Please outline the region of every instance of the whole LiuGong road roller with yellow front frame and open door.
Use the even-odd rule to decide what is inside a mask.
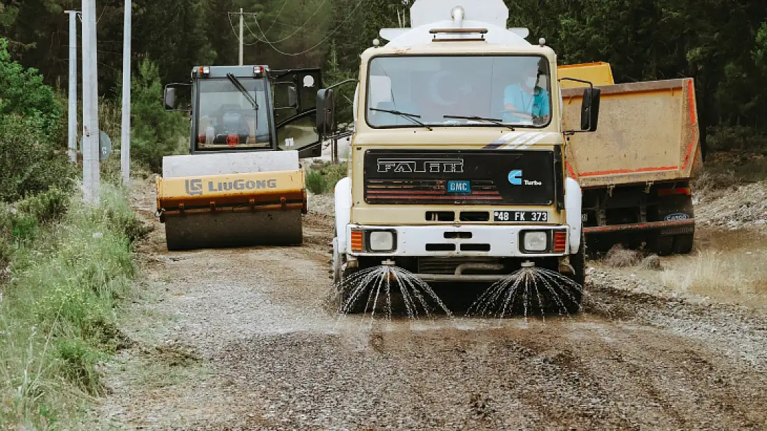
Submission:
[[[321,155],[320,87],[319,69],[266,65],[198,66],[191,83],[165,87],[166,110],[191,124],[189,154],[163,157],[156,179],[168,250],[302,242],[299,159]]]

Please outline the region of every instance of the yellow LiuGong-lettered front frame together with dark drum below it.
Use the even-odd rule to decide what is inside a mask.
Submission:
[[[304,172],[158,178],[168,250],[300,244]]]

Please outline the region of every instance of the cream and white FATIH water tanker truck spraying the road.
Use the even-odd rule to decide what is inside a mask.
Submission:
[[[433,283],[536,266],[569,281],[542,295],[578,311],[581,188],[565,137],[597,130],[600,91],[580,90],[580,122],[565,129],[555,51],[508,17],[500,0],[417,0],[411,28],[382,30],[388,43],[361,55],[350,175],[334,191],[338,286],[379,265]],[[318,92],[323,136],[336,90]]]

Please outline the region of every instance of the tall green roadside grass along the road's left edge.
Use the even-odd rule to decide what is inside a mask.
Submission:
[[[43,194],[2,209],[0,429],[66,428],[104,393],[99,363],[120,342],[115,312],[130,295],[132,241],[146,230],[123,191],[103,184],[101,196],[98,207]]]

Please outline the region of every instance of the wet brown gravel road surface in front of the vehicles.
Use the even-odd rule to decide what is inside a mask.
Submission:
[[[331,218],[303,247],[169,253],[156,230],[107,367],[117,429],[765,429],[767,318],[592,271],[568,318],[339,316]]]

